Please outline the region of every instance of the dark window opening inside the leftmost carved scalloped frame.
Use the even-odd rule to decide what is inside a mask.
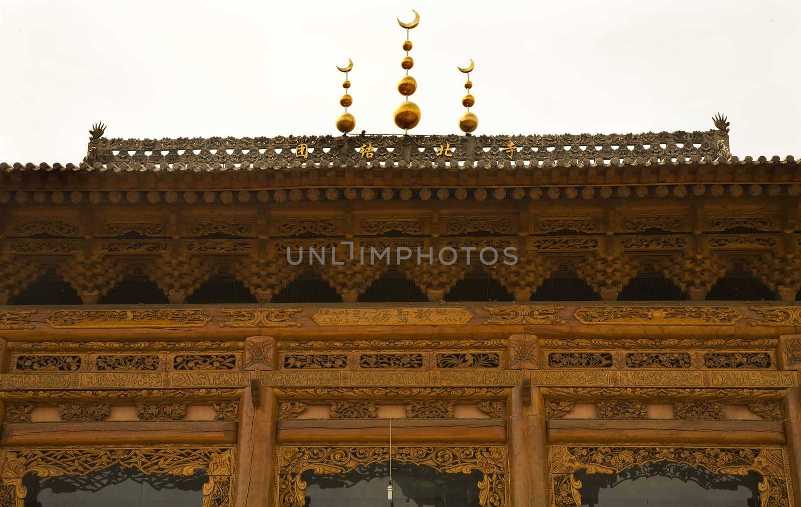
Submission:
[[[112,466],[85,477],[38,477],[29,473],[22,478],[26,486],[25,507],[201,507],[203,484],[207,473],[191,476],[145,475],[138,469]]]

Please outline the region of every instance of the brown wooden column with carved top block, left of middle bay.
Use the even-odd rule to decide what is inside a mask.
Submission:
[[[276,485],[278,400],[272,388],[260,385],[259,373],[276,365],[276,342],[267,336],[245,341],[245,369],[251,385],[239,405],[236,439],[235,507],[272,506]]]

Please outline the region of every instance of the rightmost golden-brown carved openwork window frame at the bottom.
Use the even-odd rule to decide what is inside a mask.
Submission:
[[[620,473],[632,466],[670,462],[711,473],[746,476],[759,473],[760,507],[794,507],[790,464],[783,447],[692,445],[549,445],[553,507],[579,507],[582,482],[576,472]]]

